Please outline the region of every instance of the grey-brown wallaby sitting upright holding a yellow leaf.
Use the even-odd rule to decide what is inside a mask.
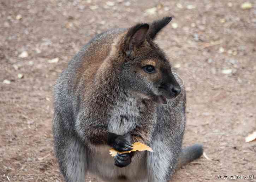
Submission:
[[[168,182],[202,155],[181,150],[186,95],[154,42],[172,17],[97,35],[69,62],[54,87],[54,148],[66,182],[97,175],[109,182]],[[176,80],[177,79],[177,80]],[[130,151],[141,142],[154,152]]]

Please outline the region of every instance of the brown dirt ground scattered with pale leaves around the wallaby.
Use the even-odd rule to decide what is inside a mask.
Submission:
[[[201,143],[211,159],[173,181],[256,181],[256,142],[245,143],[256,131],[256,4],[242,9],[244,2],[1,0],[0,181],[62,181],[51,131],[58,74],[96,34],[167,15],[172,23],[157,42],[186,84],[184,146]]]

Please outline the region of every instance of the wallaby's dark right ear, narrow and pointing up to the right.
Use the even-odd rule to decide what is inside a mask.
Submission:
[[[150,25],[150,29],[148,30],[148,37],[153,40],[156,37],[156,34],[171,20],[172,17],[164,17],[161,20],[153,21],[153,23]]]

